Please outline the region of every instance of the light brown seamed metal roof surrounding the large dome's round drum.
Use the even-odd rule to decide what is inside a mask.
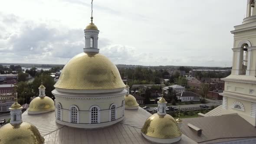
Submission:
[[[55,122],[55,112],[40,115],[28,115],[25,111],[23,121],[35,125],[45,138],[45,144],[66,143],[81,144],[109,143],[109,144],[151,144],[141,134],[144,122],[151,114],[142,108],[138,110],[125,109],[125,120],[106,128],[82,129],[71,128]],[[190,138],[182,135],[181,141],[174,144],[197,144]]]

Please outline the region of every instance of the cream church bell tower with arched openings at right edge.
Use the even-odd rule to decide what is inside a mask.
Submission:
[[[256,7],[247,0],[246,18],[234,26],[233,63],[225,81],[222,114],[237,113],[256,126]]]

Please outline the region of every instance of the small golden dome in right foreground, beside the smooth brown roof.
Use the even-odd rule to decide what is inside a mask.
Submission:
[[[141,128],[141,132],[154,138],[175,138],[182,135],[177,122],[171,115],[151,115]]]

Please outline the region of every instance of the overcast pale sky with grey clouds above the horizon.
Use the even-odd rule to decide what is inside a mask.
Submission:
[[[94,0],[98,48],[115,64],[231,66],[247,0]],[[0,62],[66,64],[85,46],[91,0],[5,0]]]

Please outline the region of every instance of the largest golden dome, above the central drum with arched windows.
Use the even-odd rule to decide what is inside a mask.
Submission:
[[[82,52],[62,69],[55,88],[98,90],[124,88],[120,73],[106,56],[95,52]]]

